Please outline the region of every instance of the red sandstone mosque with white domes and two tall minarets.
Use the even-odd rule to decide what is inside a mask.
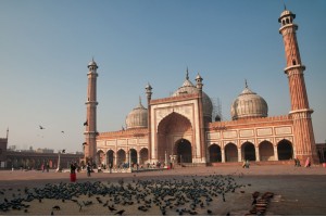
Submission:
[[[213,104],[203,90],[203,78],[198,74],[192,82],[187,69],[183,85],[171,97],[152,99],[148,84],[147,105],[139,100],[126,117],[126,129],[98,132],[98,65],[92,60],[87,74],[84,161],[113,166],[156,162],[214,165],[296,157],[303,164],[310,157],[318,163],[294,18],[287,9],[278,18],[291,100],[291,111],[283,116],[268,116],[266,101],[246,82],[230,106],[231,120],[212,117]]]

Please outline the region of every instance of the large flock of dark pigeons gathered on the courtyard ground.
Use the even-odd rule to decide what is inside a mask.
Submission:
[[[147,212],[150,213],[152,208],[159,208],[159,215],[216,215],[215,210],[218,208],[216,204],[220,203],[218,205],[223,206],[227,194],[235,193],[237,189],[244,187],[237,184],[233,176],[222,175],[189,176],[185,179],[166,180],[135,180],[134,177],[129,182],[121,179],[117,183],[110,181],[47,183],[41,188],[18,189],[20,193],[13,195],[12,199],[4,197],[3,203],[0,203],[0,215],[1,213],[10,214],[13,209],[22,212],[22,215],[28,214],[28,208],[36,205],[28,202],[35,200],[40,204],[45,200],[53,200],[48,215],[66,215],[61,203],[67,202],[73,202],[72,204],[75,205],[70,207],[75,207],[80,215],[96,205],[97,209],[102,207],[102,215],[136,215],[129,212],[130,206],[138,209],[138,215],[149,215]],[[4,195],[3,189],[0,190],[1,194]],[[258,201],[262,199],[258,196],[253,203],[262,206],[262,201]],[[268,196],[271,197],[271,194]],[[265,197],[268,196],[265,195]],[[255,214],[262,214],[261,206],[255,208]],[[251,214],[254,213],[251,212]]]

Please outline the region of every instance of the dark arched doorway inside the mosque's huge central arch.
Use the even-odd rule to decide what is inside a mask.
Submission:
[[[177,163],[192,163],[191,143],[188,140],[178,140],[174,153],[177,155]]]

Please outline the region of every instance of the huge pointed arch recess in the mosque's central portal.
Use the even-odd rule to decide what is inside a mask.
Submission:
[[[158,153],[158,161],[164,162],[165,161],[165,154],[166,156],[170,155],[177,155],[177,150],[175,150],[176,146],[179,145],[180,139],[179,138],[192,138],[192,126],[190,120],[176,113],[173,112],[166,117],[164,117],[160,124],[158,125],[158,144],[154,149],[156,149]],[[185,140],[185,139],[184,139]],[[189,155],[189,153],[185,150],[190,150],[190,159],[187,159],[187,162],[192,162],[191,157],[191,141],[187,140],[190,144],[187,148],[183,148],[187,144],[180,144],[180,153],[186,152],[186,155]],[[185,149],[185,150],[184,150]],[[181,151],[184,150],[184,151]],[[187,156],[189,157],[189,156]],[[183,156],[184,158],[184,156]],[[183,161],[181,158],[181,161]],[[185,158],[186,159],[186,158]],[[179,158],[178,158],[179,161]],[[184,162],[184,161],[183,161]]]

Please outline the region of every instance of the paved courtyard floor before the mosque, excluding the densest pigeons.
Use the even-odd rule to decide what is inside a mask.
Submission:
[[[68,187],[70,174],[68,173],[55,173],[50,170],[49,173],[35,171],[35,170],[2,170],[0,171],[0,204],[5,203],[4,200],[11,201],[15,197],[23,197],[23,190],[34,189],[40,191],[47,184],[51,187],[62,186]],[[263,194],[265,192],[272,192],[274,196],[269,200],[267,208],[264,215],[309,215],[319,216],[326,213],[325,202],[325,189],[326,189],[326,168],[322,166],[313,166],[311,168],[294,167],[292,165],[251,165],[249,169],[241,168],[236,165],[223,165],[216,167],[180,167],[171,170],[156,170],[145,173],[122,173],[122,174],[109,174],[109,173],[92,173],[91,177],[87,177],[86,173],[77,173],[76,184],[85,182],[101,183],[109,188],[115,188],[116,186],[123,186],[125,189],[136,188],[137,184],[139,192],[146,187],[150,189],[160,188],[164,183],[173,183],[171,188],[178,188],[177,193],[183,193],[185,188],[196,182],[198,188],[201,188],[200,183],[213,183],[210,182],[214,179],[214,183],[222,183],[223,189],[229,184],[234,184],[233,192],[226,192],[213,197],[212,202],[208,203],[204,207],[196,207],[195,213],[187,213],[186,207],[188,204],[184,203],[179,206],[174,205],[172,208],[166,208],[164,215],[249,215],[252,209],[254,192]],[[147,186],[141,186],[146,183]],[[142,189],[141,189],[141,188]],[[71,187],[68,187],[71,188]],[[37,189],[37,190],[36,190]],[[165,189],[166,190],[166,189]],[[149,192],[147,190],[147,192]],[[225,197],[224,197],[225,195]],[[150,195],[152,196],[152,195]],[[76,201],[74,197],[73,201]],[[108,199],[108,200],[106,200]],[[131,196],[130,196],[131,199]],[[150,200],[149,200],[150,199]],[[223,200],[222,200],[223,199]],[[5,216],[23,216],[23,215],[60,215],[60,216],[87,216],[87,215],[118,215],[117,210],[124,210],[121,215],[135,216],[135,215],[148,215],[158,216],[163,215],[162,206],[154,205],[151,202],[151,206],[147,210],[141,210],[140,205],[136,203],[136,199],[133,197],[135,204],[126,205],[116,203],[115,212],[110,212],[108,207],[104,207],[100,200],[108,202],[113,206],[113,200],[109,200],[108,195],[79,195],[78,202],[89,202],[92,205],[78,207],[76,203],[71,200],[61,199],[42,199],[37,197],[25,202],[28,204],[27,208],[12,209],[7,212],[0,210],[0,215]],[[148,197],[151,201],[152,197]],[[171,197],[172,200],[172,197]],[[125,202],[125,201],[124,201]],[[126,203],[126,202],[125,202]],[[134,203],[134,202],[133,202]],[[139,201],[138,201],[139,203]],[[79,204],[79,203],[77,203]],[[53,206],[61,207],[60,210],[53,209]],[[111,206],[111,207],[112,207]],[[104,208],[103,208],[104,207]],[[161,209],[161,210],[160,210]],[[164,209],[165,210],[165,209]],[[180,213],[184,210],[184,213]],[[209,213],[208,213],[209,212]],[[210,213],[211,212],[211,213]]]

